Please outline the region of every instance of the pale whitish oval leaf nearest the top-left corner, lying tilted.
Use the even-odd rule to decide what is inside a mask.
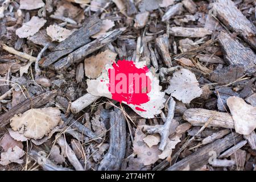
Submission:
[[[38,16],[33,16],[31,20],[22,24],[22,27],[16,30],[16,35],[19,38],[27,38],[28,36],[34,35],[40,30],[46,23],[46,20],[43,18],[38,18]]]

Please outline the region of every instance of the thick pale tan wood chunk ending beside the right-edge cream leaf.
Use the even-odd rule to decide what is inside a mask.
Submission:
[[[214,114],[215,113],[215,114]],[[185,111],[183,119],[193,126],[203,126],[208,119],[214,114],[212,121],[208,127],[224,127],[226,129],[234,129],[234,121],[228,113],[221,113],[213,110],[193,108]]]

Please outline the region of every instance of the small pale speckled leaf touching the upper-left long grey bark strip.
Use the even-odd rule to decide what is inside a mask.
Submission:
[[[72,31],[67,28],[63,28],[57,25],[50,25],[46,28],[47,35],[52,38],[52,41],[63,42],[67,39],[69,35],[72,34]]]

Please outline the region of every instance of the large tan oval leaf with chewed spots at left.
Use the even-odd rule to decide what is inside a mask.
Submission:
[[[60,110],[53,107],[30,109],[10,119],[11,128],[27,138],[40,139],[60,122]]]

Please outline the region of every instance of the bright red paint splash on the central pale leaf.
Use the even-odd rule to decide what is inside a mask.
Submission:
[[[146,73],[148,68],[137,68],[133,61],[119,60],[113,64],[109,73],[109,91],[112,99],[118,102],[140,106],[150,100],[147,94],[151,90],[151,80]],[[133,76],[131,76],[133,75]],[[139,107],[135,109],[146,111]]]

